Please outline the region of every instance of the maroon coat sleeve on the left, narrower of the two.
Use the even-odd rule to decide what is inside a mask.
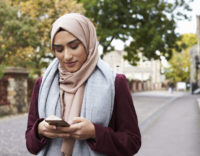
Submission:
[[[42,78],[38,79],[34,85],[32,92],[31,103],[28,113],[28,123],[26,130],[26,147],[32,154],[37,154],[48,142],[45,137],[39,138],[37,127],[38,124],[43,120],[38,115],[38,94],[41,85]]]

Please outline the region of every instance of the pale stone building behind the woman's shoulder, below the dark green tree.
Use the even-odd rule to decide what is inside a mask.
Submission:
[[[123,59],[124,51],[113,51],[106,54],[103,58],[114,71],[125,74],[129,80],[146,82],[145,90],[161,89],[161,63],[160,60],[143,61],[140,54],[140,61],[137,66],[132,66]],[[141,90],[141,89],[140,89]]]

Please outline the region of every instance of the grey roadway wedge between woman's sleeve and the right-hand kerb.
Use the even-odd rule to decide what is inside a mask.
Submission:
[[[138,116],[140,130],[143,132],[165,108],[188,92],[147,91],[133,93],[133,102]]]

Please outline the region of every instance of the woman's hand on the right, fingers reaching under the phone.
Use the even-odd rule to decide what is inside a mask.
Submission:
[[[95,139],[95,127],[88,119],[75,117],[70,127],[57,127],[57,129],[67,132],[74,139]]]

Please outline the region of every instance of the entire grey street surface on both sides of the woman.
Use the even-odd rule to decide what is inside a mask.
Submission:
[[[199,156],[199,95],[175,92],[133,94],[142,132],[136,156]],[[0,118],[0,156],[31,156],[25,145],[27,114]]]

